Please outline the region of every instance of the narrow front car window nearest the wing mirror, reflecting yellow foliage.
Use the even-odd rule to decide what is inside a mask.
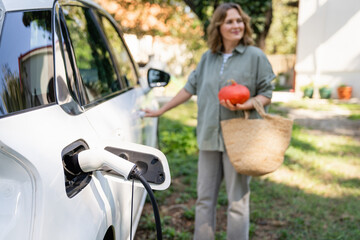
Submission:
[[[137,75],[122,38],[107,17],[99,14],[99,18],[100,25],[114,52],[116,64],[123,82],[127,87],[134,87],[137,84]]]

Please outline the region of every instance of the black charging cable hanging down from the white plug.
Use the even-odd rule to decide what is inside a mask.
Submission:
[[[142,185],[145,187],[147,193],[149,194],[150,201],[151,201],[153,211],[154,211],[157,240],[162,240],[160,214],[159,214],[159,208],[158,208],[158,205],[156,203],[155,196],[154,196],[154,192],[152,191],[149,183],[141,175],[141,172],[137,168],[135,168],[133,171],[131,171],[131,173],[129,175],[129,179],[138,179],[142,183]]]

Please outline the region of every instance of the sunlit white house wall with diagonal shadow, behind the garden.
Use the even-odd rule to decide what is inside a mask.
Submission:
[[[360,1],[300,0],[296,90],[348,84],[360,97]]]

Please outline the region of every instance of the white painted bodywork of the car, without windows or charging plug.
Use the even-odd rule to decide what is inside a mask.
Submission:
[[[0,33],[4,12],[52,9],[54,2],[0,0]],[[61,50],[54,45],[55,79],[66,79]],[[54,103],[0,118],[0,239],[103,239],[109,227],[114,227],[116,239],[129,239],[131,181],[94,171],[89,184],[69,197],[62,154],[78,140],[90,149],[111,146],[152,153],[133,143],[156,147],[157,119],[141,118],[139,111],[157,107],[142,84],[89,109],[81,107],[77,115]],[[156,154],[169,173],[159,188],[164,190],[170,185],[170,170],[166,157]],[[133,236],[145,197],[144,188],[135,183]]]

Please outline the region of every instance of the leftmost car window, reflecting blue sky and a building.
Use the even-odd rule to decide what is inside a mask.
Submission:
[[[55,102],[51,11],[9,12],[0,40],[0,117]]]

